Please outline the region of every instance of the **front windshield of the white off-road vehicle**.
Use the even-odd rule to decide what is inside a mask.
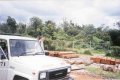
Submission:
[[[44,54],[37,40],[10,40],[11,56],[38,55]]]

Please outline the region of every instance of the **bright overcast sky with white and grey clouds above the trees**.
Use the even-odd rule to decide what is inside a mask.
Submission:
[[[7,16],[24,23],[30,17],[37,16],[57,24],[66,19],[79,25],[113,25],[120,21],[120,0],[0,1],[0,21],[4,21]]]

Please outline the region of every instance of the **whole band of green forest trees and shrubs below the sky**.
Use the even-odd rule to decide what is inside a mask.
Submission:
[[[64,20],[57,25],[54,21],[43,21],[39,17],[32,17],[29,23],[17,23],[15,18],[7,17],[0,22],[0,34],[20,34],[22,36],[45,37],[46,50],[72,50],[77,53],[81,49],[104,51],[107,56],[120,56],[120,22],[114,23],[118,29],[111,29],[102,24],[78,25]],[[87,52],[89,54],[90,51]]]

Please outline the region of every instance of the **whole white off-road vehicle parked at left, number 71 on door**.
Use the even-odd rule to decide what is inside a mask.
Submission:
[[[73,80],[71,66],[46,56],[34,38],[0,35],[0,80]]]

